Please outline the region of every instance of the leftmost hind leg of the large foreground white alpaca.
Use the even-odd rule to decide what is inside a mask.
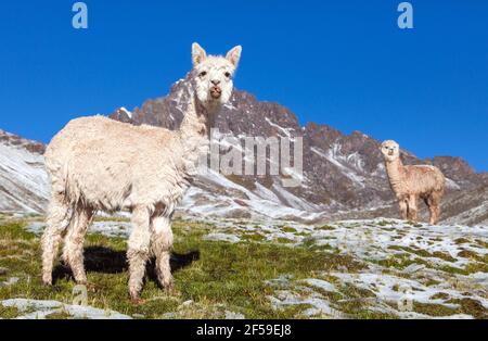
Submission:
[[[61,235],[70,224],[70,209],[62,202],[62,199],[53,195],[47,217],[47,227],[42,235],[42,282],[52,285],[52,267],[57,254]],[[73,214],[73,213],[72,213]]]

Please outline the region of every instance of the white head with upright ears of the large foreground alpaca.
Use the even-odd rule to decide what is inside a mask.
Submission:
[[[198,101],[215,110],[226,104],[232,94],[232,77],[241,59],[242,48],[233,48],[226,56],[207,55],[196,42],[192,46],[192,79]]]

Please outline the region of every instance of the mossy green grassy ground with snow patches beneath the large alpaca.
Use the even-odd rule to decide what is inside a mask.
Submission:
[[[68,268],[57,262],[54,286],[44,287],[40,281],[40,238],[26,230],[26,225],[33,219],[39,220],[40,217],[15,220],[13,217],[0,216],[0,301],[22,298],[72,304],[76,283]],[[126,223],[127,219],[102,217],[95,222]],[[391,304],[394,310],[383,313],[371,308],[380,300],[374,286],[370,287],[371,290],[361,289],[332,274],[359,276],[373,266],[399,280],[419,280],[432,288],[439,286],[441,281],[408,274],[403,269],[414,264],[423,265],[439,274],[452,276],[453,280],[455,276],[488,273],[486,254],[476,253],[473,249],[459,254],[468,261],[462,267],[453,263],[455,258],[449,253],[426,251],[415,245],[389,245],[384,250],[388,251],[386,257],[370,258],[370,252],[377,250],[374,249],[374,238],[368,240],[361,237],[356,244],[348,245],[354,239],[334,235],[341,231],[361,231],[364,226],[360,223],[324,225],[316,227],[313,231],[288,225],[279,225],[275,230],[259,225],[246,228],[247,224],[248,222],[234,222],[221,229],[209,222],[177,219],[174,224],[175,249],[171,260],[176,293],[167,293],[159,288],[151,263],[142,292],[145,302],[140,305],[133,305],[127,293],[126,238],[89,233],[85,244],[85,263],[90,282],[88,304],[133,318],[222,318],[229,312],[246,318],[330,318],[326,314],[306,314],[307,310],[313,307],[306,303],[310,302],[308,299],[319,298],[348,318],[397,318],[395,303],[384,302]],[[395,227],[395,222],[380,220],[376,225],[371,224],[372,229],[383,228],[384,232],[393,237],[404,236],[409,231]],[[205,238],[216,230],[237,236],[240,241],[230,243]],[[416,240],[420,240],[419,236]],[[465,245],[470,242],[472,241],[468,239],[455,240],[455,244]],[[475,242],[479,248],[486,245],[480,239],[475,239]],[[358,256],[355,251],[364,245],[374,248]],[[373,255],[374,252],[371,256]],[[269,283],[283,277],[286,278],[284,285]],[[5,285],[12,278],[18,280]],[[336,291],[303,285],[303,279],[310,278],[328,281]],[[400,291],[401,288],[393,285],[391,289]],[[277,308],[270,298],[277,298],[283,290],[298,298],[298,302]],[[300,303],[301,299],[305,303]],[[477,300],[454,299],[445,293],[437,293],[432,298],[436,299],[448,304],[414,302],[413,312],[433,317],[453,314],[467,314],[476,318],[487,316],[487,310]],[[0,318],[15,318],[25,313],[15,307],[4,307],[0,303]],[[47,318],[70,316],[67,312],[57,311]]]

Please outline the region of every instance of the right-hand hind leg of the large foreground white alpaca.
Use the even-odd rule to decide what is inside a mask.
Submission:
[[[64,242],[63,258],[72,268],[73,276],[79,285],[87,283],[84,266],[84,242],[92,215],[92,211],[89,209],[78,209]]]

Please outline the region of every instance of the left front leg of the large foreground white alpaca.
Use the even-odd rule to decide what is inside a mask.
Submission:
[[[145,274],[145,263],[150,257],[151,231],[150,212],[145,207],[132,211],[132,235],[129,238],[129,293],[133,301],[139,300]]]

